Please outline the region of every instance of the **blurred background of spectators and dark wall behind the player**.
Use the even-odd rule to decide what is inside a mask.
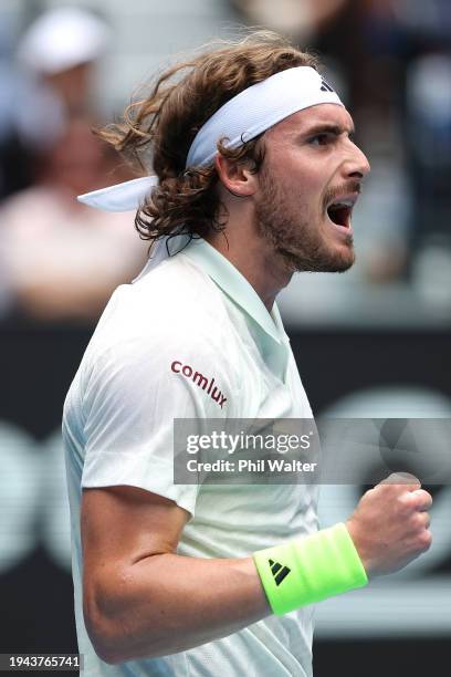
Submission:
[[[62,404],[107,299],[147,253],[133,213],[74,201],[132,178],[91,128],[239,24],[319,52],[373,167],[355,267],[300,274],[280,298],[314,412],[451,416],[449,0],[2,0],[0,653],[76,650]],[[451,488],[430,489],[428,555],[318,606],[315,677],[447,674]],[[324,488],[323,525],[363,490]]]

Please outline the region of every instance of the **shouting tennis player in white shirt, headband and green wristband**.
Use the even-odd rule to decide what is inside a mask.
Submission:
[[[104,133],[156,178],[82,199],[138,207],[155,246],[113,294],[64,408],[86,676],[306,677],[312,604],[430,545],[415,478],[319,531],[313,486],[172,479],[175,418],[312,416],[275,298],[296,271],[353,264],[369,170],[317,67],[256,32],[167,71]]]

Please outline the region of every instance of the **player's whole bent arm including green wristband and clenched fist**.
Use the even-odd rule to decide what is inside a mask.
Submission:
[[[272,611],[282,615],[365,585],[368,575],[398,571],[431,542],[426,510],[432,499],[417,485],[408,487],[381,483],[363,497],[347,524],[253,558],[227,560],[175,554],[186,518],[159,498],[147,499],[150,509],[139,538],[128,542],[125,523],[120,539],[116,528],[105,534],[95,522],[111,520],[112,492],[99,502],[103,492],[87,492],[84,612],[95,649],[109,663],[177,653],[238,632]],[[139,522],[143,511],[136,491],[133,498],[137,508],[129,497],[127,525]],[[166,524],[166,534],[168,523],[172,538],[153,539],[156,527]],[[102,534],[102,544],[92,544],[94,534]],[[144,542],[151,551],[141,550]]]

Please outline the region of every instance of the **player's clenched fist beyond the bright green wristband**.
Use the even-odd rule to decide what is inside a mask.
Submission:
[[[361,497],[346,525],[369,579],[399,571],[430,548],[431,506],[408,475],[390,475]]]

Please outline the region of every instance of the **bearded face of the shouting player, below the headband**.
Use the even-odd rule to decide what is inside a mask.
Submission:
[[[321,104],[264,136],[256,227],[291,272],[342,272],[354,263],[350,217],[369,165],[353,129],[343,106]]]

